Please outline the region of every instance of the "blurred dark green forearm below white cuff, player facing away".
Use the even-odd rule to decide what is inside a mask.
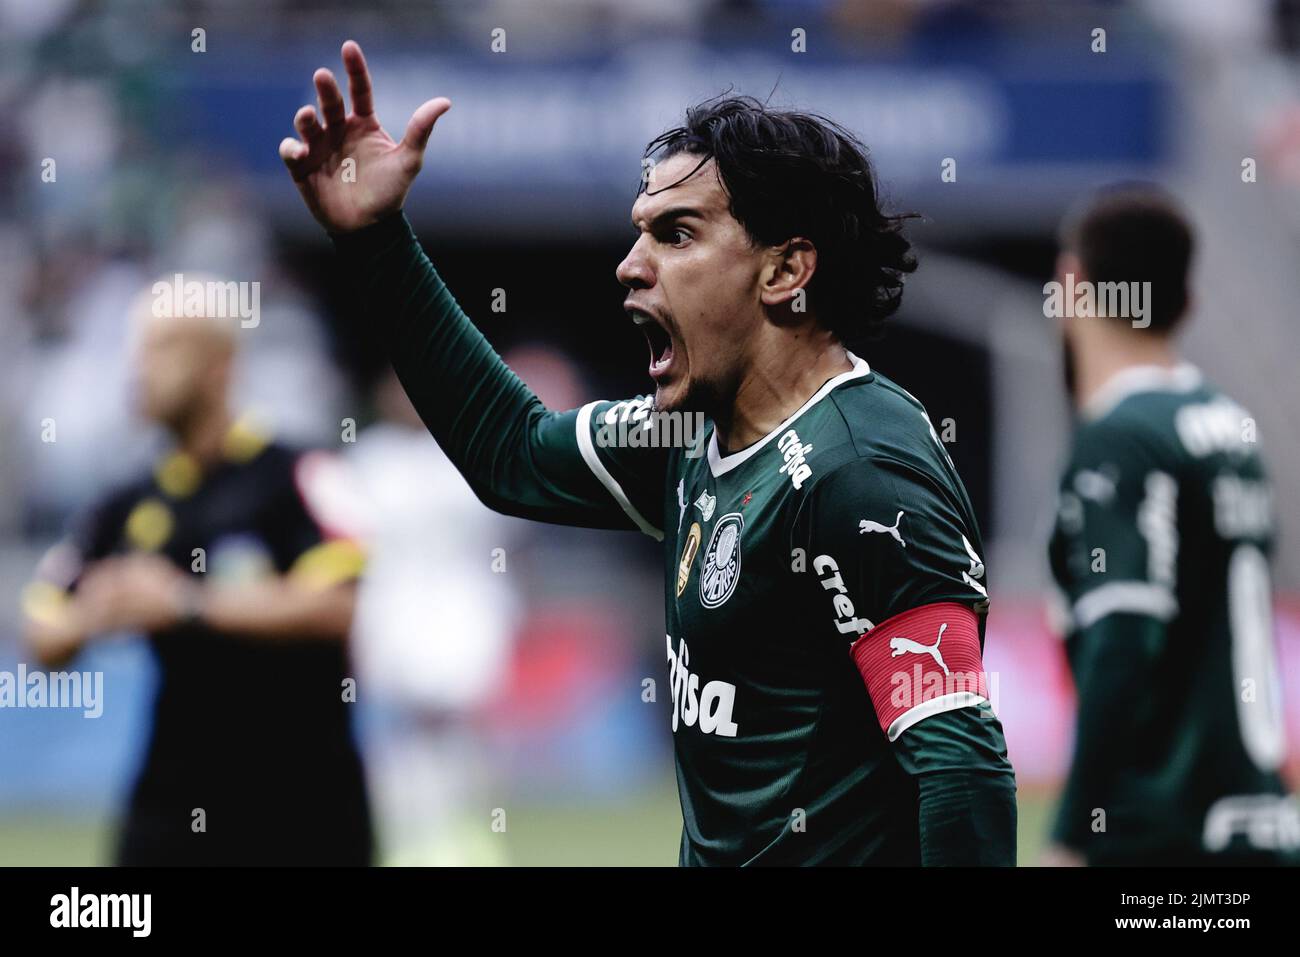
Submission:
[[[1141,700],[1147,662],[1164,640],[1165,625],[1147,615],[1114,614],[1092,624],[1079,642],[1075,685],[1079,713],[1074,757],[1052,836],[1087,849],[1097,811],[1105,810],[1114,771],[1131,740],[1134,709]]]

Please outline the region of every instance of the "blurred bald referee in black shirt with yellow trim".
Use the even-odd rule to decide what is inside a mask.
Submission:
[[[118,863],[367,865],[346,701],[361,553],[308,505],[320,454],[231,416],[237,320],[156,307],[133,309],[136,399],[173,450],[40,562],[30,646],[60,668],[96,636],[148,636],[160,684]]]

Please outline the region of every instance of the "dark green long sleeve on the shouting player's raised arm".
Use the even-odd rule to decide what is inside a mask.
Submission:
[[[664,456],[594,446],[594,419],[614,403],[547,411],[460,309],[402,213],[333,239],[411,402],[484,503],[555,524],[656,529]]]

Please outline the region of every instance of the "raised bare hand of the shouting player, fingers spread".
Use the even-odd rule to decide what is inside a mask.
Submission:
[[[406,195],[424,165],[424,148],[433,125],[451,109],[445,96],[420,104],[400,142],[380,126],[370,92],[370,72],[354,40],[343,44],[352,112],[347,113],[334,74],[316,70],[312,81],[320,99],[294,114],[302,139],[286,137],[280,143],[285,161],[312,216],[333,233],[367,226],[402,208]],[[348,166],[348,160],[355,165]]]

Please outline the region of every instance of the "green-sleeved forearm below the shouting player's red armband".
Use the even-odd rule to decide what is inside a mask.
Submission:
[[[922,865],[1014,867],[1015,774],[992,710],[933,715],[894,744],[918,785]]]

